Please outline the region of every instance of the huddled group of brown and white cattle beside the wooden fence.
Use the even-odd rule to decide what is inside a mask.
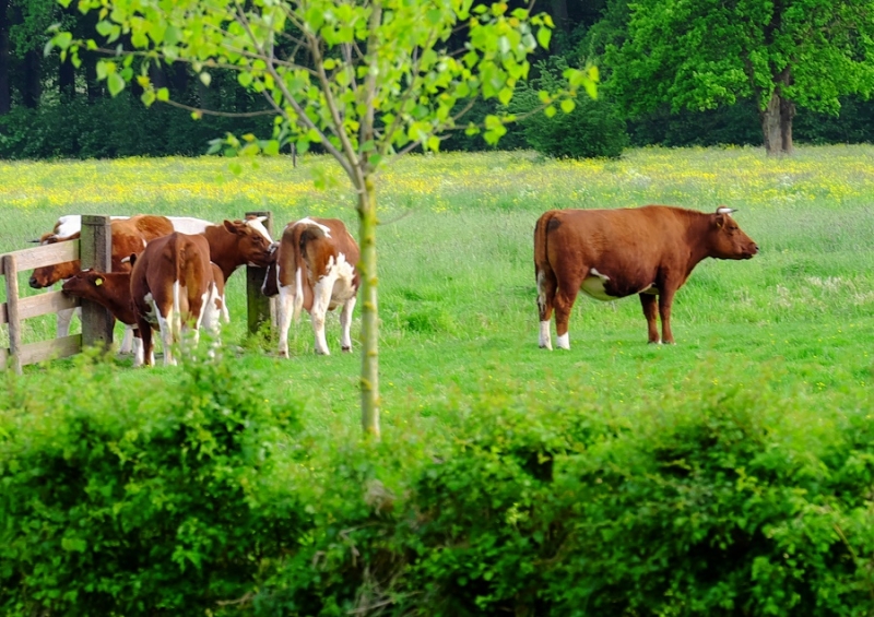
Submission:
[[[302,309],[312,317],[316,351],[329,354],[324,317],[341,304],[343,351],[350,351],[357,245],[340,221],[290,223],[276,242],[263,221],[250,216],[216,225],[190,217],[113,217],[111,272],[81,270],[78,261],[58,263],[34,270],[29,284],[43,288],[63,281],[67,294],[106,307],[128,327],[121,351],[133,352],[134,366],[154,364],[152,330],[158,330],[164,363],[175,364],[174,345],[186,330],[197,342],[201,328],[217,333],[220,321],[228,321],[224,289],[234,271],[246,264],[268,268],[262,290],[280,296],[280,355],[288,355],[288,329]],[[36,241],[72,240],[81,227],[81,216],[62,216]],[[59,335],[69,333],[71,319],[72,311],[59,315]]]

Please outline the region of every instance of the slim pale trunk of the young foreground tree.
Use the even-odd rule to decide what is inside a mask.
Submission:
[[[358,235],[362,258],[362,427],[379,439],[379,315],[376,271],[376,190],[367,176],[358,194]]]

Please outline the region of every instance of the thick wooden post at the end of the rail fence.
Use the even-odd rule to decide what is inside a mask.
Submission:
[[[82,270],[93,268],[101,272],[113,269],[113,228],[108,216],[82,216],[82,236],[79,245]],[[82,346],[109,348],[113,344],[111,313],[98,305],[82,299]]]

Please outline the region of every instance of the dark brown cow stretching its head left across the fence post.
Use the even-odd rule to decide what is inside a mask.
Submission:
[[[225,305],[225,284],[222,271],[214,263],[212,268],[216,293],[212,298],[214,310],[217,311],[225,323],[231,321]],[[137,313],[131,299],[130,272],[101,272],[98,270],[82,270],[63,282],[63,292],[71,296],[85,298],[105,307],[115,319],[129,325],[133,331],[133,366],[143,364],[143,347]]]

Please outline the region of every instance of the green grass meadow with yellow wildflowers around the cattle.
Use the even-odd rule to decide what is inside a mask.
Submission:
[[[331,161],[260,162],[234,178],[221,158],[0,164],[0,251],[26,248],[61,214],[156,213],[220,221],[271,210],[277,228],[305,215],[343,218],[353,197]],[[314,188],[311,170],[334,186]],[[221,181],[218,178],[221,177]],[[580,399],[646,412],[702,383],[748,383],[817,408],[857,400],[874,380],[874,146],[628,152],[617,162],[557,162],[533,153],[409,156],[381,177],[380,363],[383,431],[451,426],[447,410],[477,392],[533,396],[570,410]],[[553,207],[666,203],[739,209],[761,248],[744,262],[708,260],[677,294],[676,346],[647,345],[636,298],[583,296],[570,352],[538,348],[532,262],[536,217]],[[24,293],[26,275],[21,277]],[[314,427],[357,430],[357,354],[316,357],[306,320],[291,360],[245,341],[244,275],[228,286],[226,344],[245,354],[267,398],[308,403]],[[359,320],[353,325],[353,336]],[[26,340],[54,332],[28,321]],[[5,336],[5,333],[2,334]],[[357,347],[359,349],[359,346]],[[245,349],[245,351],[244,351]],[[129,364],[130,359],[121,359]],[[28,367],[54,379],[69,360]],[[131,387],[172,387],[176,369],[130,370]],[[62,373],[61,373],[62,375]]]

